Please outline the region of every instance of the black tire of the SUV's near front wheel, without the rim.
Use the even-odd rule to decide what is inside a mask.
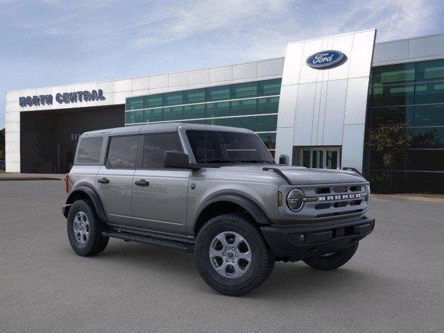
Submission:
[[[214,237],[226,231],[240,234],[251,248],[250,266],[239,278],[219,275],[210,262],[210,245]],[[275,264],[275,257],[257,225],[243,214],[224,214],[205,223],[198,233],[194,255],[203,280],[212,289],[227,296],[241,296],[259,287],[271,274]]]

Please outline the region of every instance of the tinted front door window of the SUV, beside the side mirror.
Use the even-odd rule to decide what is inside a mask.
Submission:
[[[165,151],[182,151],[177,133],[146,135],[143,168],[162,169]]]

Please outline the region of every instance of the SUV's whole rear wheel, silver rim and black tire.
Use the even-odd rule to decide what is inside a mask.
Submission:
[[[69,244],[81,256],[97,255],[105,250],[109,237],[103,237],[103,223],[89,200],[77,200],[67,219]]]

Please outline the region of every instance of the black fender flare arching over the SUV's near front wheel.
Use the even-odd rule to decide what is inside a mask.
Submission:
[[[196,215],[196,219],[194,221],[194,225],[198,222],[200,214],[212,203],[217,203],[221,201],[228,201],[230,203],[235,203],[244,208],[250,214],[253,219],[259,224],[271,224],[270,219],[264,213],[264,211],[252,200],[241,196],[239,194],[220,194],[219,196],[215,196],[210,200],[205,201],[205,203],[200,207],[198,214]]]

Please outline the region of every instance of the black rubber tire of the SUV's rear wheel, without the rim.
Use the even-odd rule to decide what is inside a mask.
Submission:
[[[76,239],[74,234],[74,218],[78,212],[84,212],[89,222],[89,238],[84,244]],[[103,237],[104,224],[100,221],[94,210],[94,205],[89,200],[76,200],[69,209],[67,218],[67,232],[69,244],[75,253],[83,257],[97,255],[105,250],[110,237]]]

